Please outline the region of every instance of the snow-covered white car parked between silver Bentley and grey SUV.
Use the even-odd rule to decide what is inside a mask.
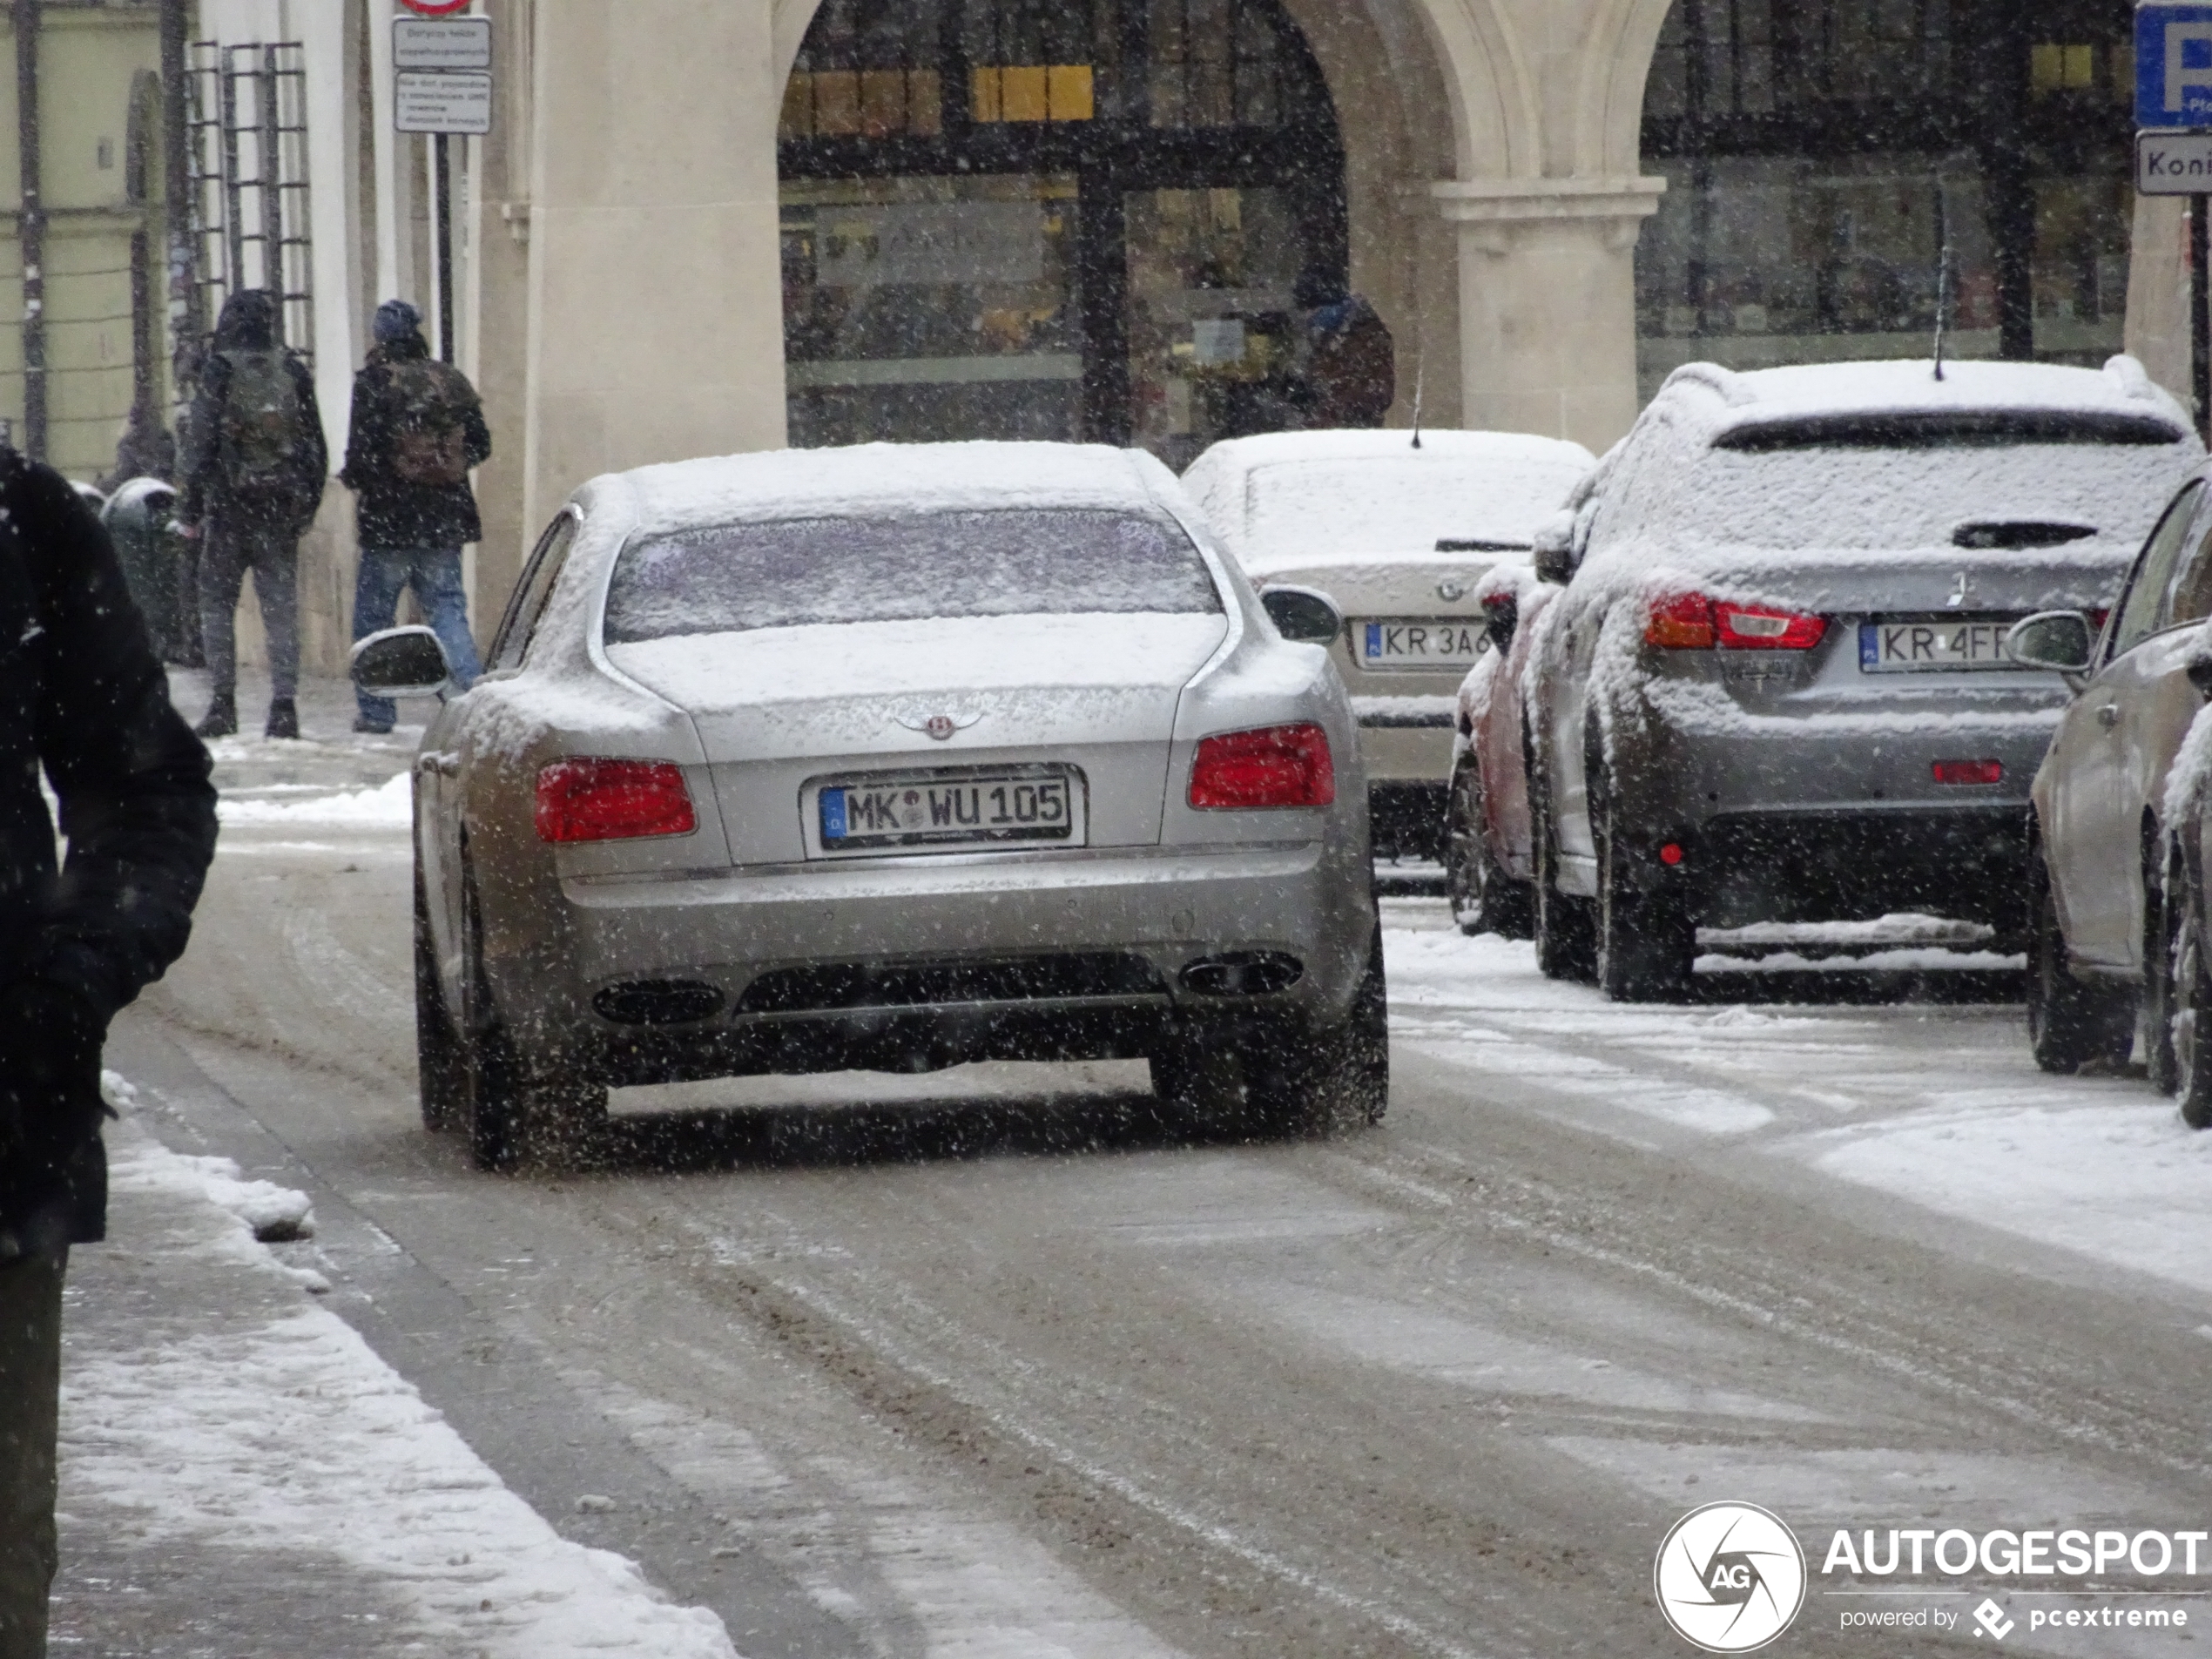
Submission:
[[[1453,692],[1482,646],[1475,584],[1528,557],[1535,529],[1595,465],[1515,431],[1285,431],[1190,462],[1197,498],[1263,588],[1296,584],[1345,617],[1378,852],[1440,858]]]

